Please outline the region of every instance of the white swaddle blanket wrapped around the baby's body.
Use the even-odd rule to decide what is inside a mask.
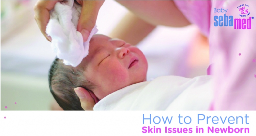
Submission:
[[[100,100],[94,110],[208,110],[212,76],[193,79],[160,76],[122,88]]]

